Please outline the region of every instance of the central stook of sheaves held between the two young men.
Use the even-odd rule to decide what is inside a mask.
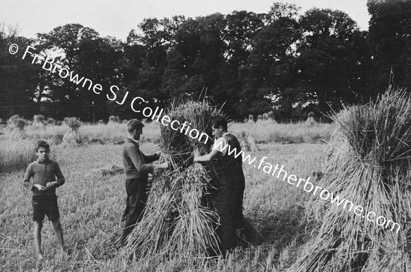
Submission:
[[[213,116],[219,114],[206,101],[188,101],[172,106],[167,116],[180,123],[206,132]],[[214,186],[216,174],[211,164],[192,164],[194,155],[208,153],[212,141],[198,140],[179,130],[160,124],[162,151],[160,161],[173,166],[155,175],[144,216],[127,238],[125,251],[140,258],[153,254],[169,256],[203,256],[206,251],[219,252],[219,239],[214,227],[218,222]],[[214,173],[214,174],[213,174]]]

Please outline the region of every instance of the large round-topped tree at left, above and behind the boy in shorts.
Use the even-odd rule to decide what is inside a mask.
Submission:
[[[68,24],[55,27],[48,34],[38,34],[40,49],[55,55],[55,62],[61,67],[92,81],[92,86],[101,84],[102,90],[97,94],[90,88],[90,83],[75,84],[70,77],[62,79],[51,71],[42,71],[47,78],[45,96],[50,103],[51,111],[56,111],[58,118],[79,116],[91,120],[90,112],[95,118],[95,109],[100,109],[97,118],[106,118],[106,94],[110,86],[120,83],[119,62],[121,60],[121,43],[114,38],[101,38],[89,27],[79,24]],[[95,120],[94,120],[95,121]]]

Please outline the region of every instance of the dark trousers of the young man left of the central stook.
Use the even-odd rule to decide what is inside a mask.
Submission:
[[[125,227],[121,236],[121,245],[125,244],[127,236],[142,219],[142,211],[147,203],[147,189],[147,182],[142,182],[140,179],[125,180],[127,204],[122,219],[125,221]]]

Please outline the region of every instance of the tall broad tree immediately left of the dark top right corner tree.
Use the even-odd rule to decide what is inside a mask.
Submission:
[[[297,56],[277,73],[285,83],[276,105],[283,114],[329,112],[369,95],[366,34],[345,12],[313,8],[299,19]],[[281,85],[280,85],[281,86]],[[302,117],[302,116],[300,116]]]

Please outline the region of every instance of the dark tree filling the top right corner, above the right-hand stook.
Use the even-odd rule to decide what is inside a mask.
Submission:
[[[411,1],[369,0],[369,38],[375,62],[374,81],[411,87]],[[392,72],[392,73],[391,73]]]

